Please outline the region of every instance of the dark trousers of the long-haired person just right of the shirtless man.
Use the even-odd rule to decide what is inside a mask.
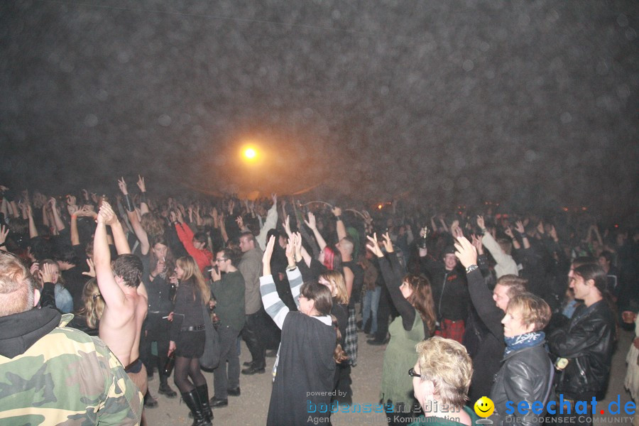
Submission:
[[[160,374],[160,383],[166,383],[167,376],[163,373],[164,364],[168,358],[168,344],[170,341],[169,330],[171,323],[163,320],[165,314],[148,314],[142,327],[140,337],[140,360],[146,367],[148,373],[153,372],[153,367],[157,366]],[[158,356],[151,354],[151,344],[157,342]]]

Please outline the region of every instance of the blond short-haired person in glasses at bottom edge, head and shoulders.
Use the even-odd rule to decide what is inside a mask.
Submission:
[[[478,417],[465,406],[473,376],[466,348],[435,336],[417,344],[416,350],[417,363],[408,374],[413,377],[415,398],[424,414],[411,425],[474,425]]]

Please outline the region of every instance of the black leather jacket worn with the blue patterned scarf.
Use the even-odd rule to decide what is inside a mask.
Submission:
[[[544,342],[514,351],[506,355],[502,362],[491,389],[496,412],[502,420],[509,415],[518,419],[508,422],[510,425],[539,425],[538,417],[543,417],[543,413],[536,415],[529,410],[527,415],[523,415],[518,412],[517,405],[520,401],[526,401],[528,407],[535,401],[542,402],[544,407],[546,405],[554,368]],[[507,401],[512,401],[512,405],[506,407]],[[514,413],[506,413],[507,408],[509,412],[514,410]]]

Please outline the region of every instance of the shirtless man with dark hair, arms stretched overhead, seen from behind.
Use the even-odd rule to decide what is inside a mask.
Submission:
[[[111,270],[107,244],[111,226],[118,258]],[[146,393],[146,368],[139,360],[142,322],[148,309],[146,290],[141,285],[142,261],[131,254],[122,225],[107,202],[102,202],[93,240],[93,261],[100,293],[106,302],[100,318],[99,337],[117,356],[142,394]]]

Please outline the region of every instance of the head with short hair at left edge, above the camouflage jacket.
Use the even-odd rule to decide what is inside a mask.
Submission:
[[[35,279],[22,261],[0,251],[0,317],[33,309],[40,300]]]

